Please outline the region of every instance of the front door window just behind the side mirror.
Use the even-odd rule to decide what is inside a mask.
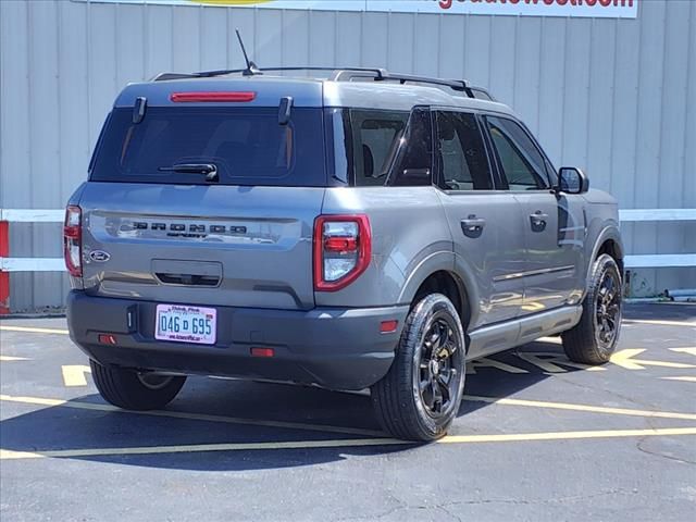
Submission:
[[[486,122],[508,188],[548,188],[545,159],[524,128],[505,117],[486,116]]]

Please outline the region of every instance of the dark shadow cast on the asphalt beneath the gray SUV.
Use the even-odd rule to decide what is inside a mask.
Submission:
[[[552,343],[534,343],[527,347],[535,352],[562,351],[560,345]],[[492,359],[524,366],[527,373],[477,368],[475,374],[467,377],[468,395],[504,398],[549,377],[539,368],[535,370],[525,364],[514,352]],[[464,401],[459,415],[489,405]],[[314,465],[341,460],[347,455],[387,455],[418,447],[411,444],[326,448],[307,444],[299,449],[273,446],[273,443],[382,437],[387,435],[380,430],[368,393],[204,377],[189,378],[179,397],[156,414],[114,410],[97,394],[89,394],[72,399],[67,405],[51,406],[0,422],[0,447],[5,451],[41,453],[103,449],[104,455],[80,456],[69,451],[52,457],[198,471]],[[181,448],[221,444],[261,444],[259,449],[262,450],[187,451]],[[173,447],[175,450],[144,451],[144,455],[123,450],[153,447]]]

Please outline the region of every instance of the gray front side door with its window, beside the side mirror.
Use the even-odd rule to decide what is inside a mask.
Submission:
[[[523,313],[577,302],[582,296],[582,203],[551,191],[548,161],[527,130],[509,117],[485,117],[502,187],[521,204],[526,264]]]

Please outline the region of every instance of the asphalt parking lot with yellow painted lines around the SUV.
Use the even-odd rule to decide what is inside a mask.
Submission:
[[[428,445],[383,434],[366,393],[190,377],[124,412],[64,319],[2,320],[0,520],[696,520],[696,306],[625,315],[601,368],[559,338],[471,363]]]

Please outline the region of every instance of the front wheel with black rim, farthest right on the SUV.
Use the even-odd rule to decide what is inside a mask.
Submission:
[[[607,283],[608,279],[611,284]],[[621,294],[619,265],[611,256],[602,253],[592,265],[580,323],[561,335],[563,350],[571,361],[584,364],[609,361],[621,332]],[[609,319],[608,314],[613,319]],[[607,330],[609,326],[610,332]]]

